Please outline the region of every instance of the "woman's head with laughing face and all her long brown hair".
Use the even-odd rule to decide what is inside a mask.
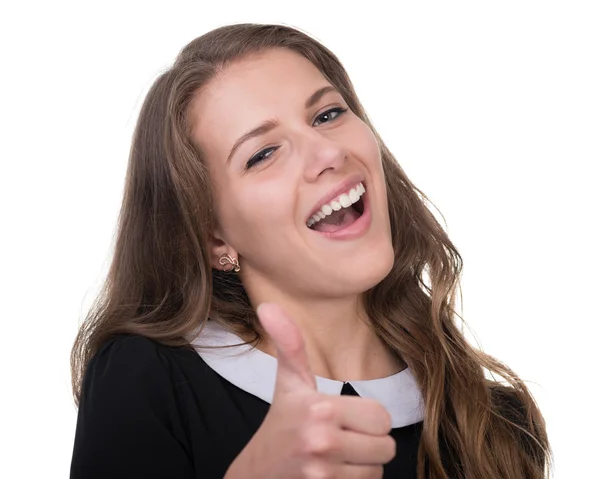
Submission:
[[[366,193],[356,211],[311,223],[317,207],[358,183]],[[533,472],[546,460],[543,419],[518,377],[455,324],[461,257],[426,202],[319,42],[254,24],[195,39],[140,113],[113,261],[72,352],[76,398],[87,362],[112,335],[187,345],[210,317],[260,340],[252,295],[364,293],[375,332],[423,393],[420,477],[445,477],[442,438],[454,463],[475,471],[467,477],[542,477]],[[354,220],[355,237],[327,237],[336,225],[325,223]],[[219,270],[222,254],[239,257],[239,274]],[[505,415],[512,420],[497,414],[502,395],[484,369],[525,404]],[[515,444],[515,421],[531,457]]]

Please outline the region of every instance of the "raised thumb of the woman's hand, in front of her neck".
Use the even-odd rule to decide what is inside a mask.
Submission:
[[[256,314],[277,350],[275,395],[299,390],[316,391],[315,376],[298,325],[275,303],[261,303]]]

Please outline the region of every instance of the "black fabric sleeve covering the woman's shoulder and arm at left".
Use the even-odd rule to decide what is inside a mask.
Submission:
[[[141,336],[110,340],[89,362],[71,479],[195,477],[169,358]]]

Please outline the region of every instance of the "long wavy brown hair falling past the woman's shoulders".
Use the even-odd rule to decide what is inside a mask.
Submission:
[[[219,70],[268,48],[289,48],[310,60],[379,141],[395,264],[365,293],[365,304],[375,331],[411,368],[423,394],[418,477],[549,477],[545,422],[526,385],[472,347],[455,323],[462,320],[455,311],[462,258],[431,202],[375,132],[337,57],[282,25],[212,30],[184,47],[150,89],[133,137],[110,270],[71,354],[75,401],[88,361],[116,334],[189,346],[210,317],[253,341],[263,337],[238,277],[210,265],[211,182],[191,140],[188,109]]]

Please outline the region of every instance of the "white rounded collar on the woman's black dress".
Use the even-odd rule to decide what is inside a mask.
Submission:
[[[200,357],[220,376],[240,389],[271,404],[275,390],[277,359],[241,344],[243,340],[215,321],[207,321],[202,332],[192,340]],[[205,346],[231,346],[204,348]],[[317,389],[324,394],[339,395],[343,381],[315,376]],[[412,371],[406,369],[380,379],[347,381],[365,398],[379,401],[392,418],[392,427],[404,427],[423,420],[421,391]]]

